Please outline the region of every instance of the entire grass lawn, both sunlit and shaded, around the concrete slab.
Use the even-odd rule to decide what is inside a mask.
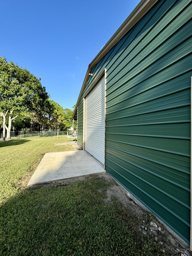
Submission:
[[[67,138],[14,139],[0,143],[0,255],[164,255],[137,228],[137,216],[117,200],[104,204],[105,179],[68,186],[18,190],[42,154],[73,150]],[[147,216],[147,215],[146,215]]]

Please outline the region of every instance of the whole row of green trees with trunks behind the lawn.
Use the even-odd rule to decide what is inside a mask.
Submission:
[[[41,78],[7,62],[4,56],[0,56],[0,113],[3,140],[5,129],[7,139],[10,139],[11,129],[64,131],[73,124],[73,110],[63,109],[52,101],[41,85]]]

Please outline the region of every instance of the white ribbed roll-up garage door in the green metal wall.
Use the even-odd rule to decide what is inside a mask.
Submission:
[[[85,97],[85,150],[104,164],[105,79]]]

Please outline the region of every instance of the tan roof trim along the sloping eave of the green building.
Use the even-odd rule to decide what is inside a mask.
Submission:
[[[136,8],[131,12],[128,18],[124,21],[124,23],[119,27],[119,29],[115,32],[115,34],[110,38],[110,40],[105,44],[105,46],[101,49],[98,55],[92,60],[92,62],[88,65],[88,70],[85,75],[85,79],[82,84],[82,88],[73,112],[73,117],[76,117],[77,106],[79,104],[80,98],[82,96],[82,92],[85,88],[85,84],[88,79],[88,74],[91,72],[91,68],[93,68],[108,52],[111,48],[140,20],[144,14],[156,3],[158,0],[141,0],[141,2],[136,6]]]

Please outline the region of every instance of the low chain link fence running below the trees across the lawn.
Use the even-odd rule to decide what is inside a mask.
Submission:
[[[7,136],[7,131],[5,132],[5,137]],[[41,137],[54,137],[61,138],[65,137],[68,140],[75,140],[76,136],[73,131],[11,131],[11,138],[41,138]],[[0,138],[2,139],[3,132],[0,131]]]

